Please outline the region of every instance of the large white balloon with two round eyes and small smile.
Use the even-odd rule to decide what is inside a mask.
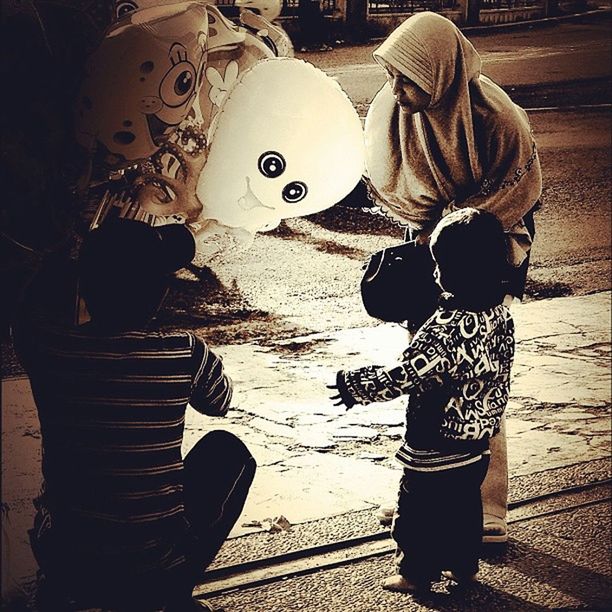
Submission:
[[[293,58],[243,72],[210,130],[201,219],[250,232],[328,208],[364,168],[361,121],[338,83]]]

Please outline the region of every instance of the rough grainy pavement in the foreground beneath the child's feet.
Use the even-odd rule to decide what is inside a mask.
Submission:
[[[516,493],[518,487],[522,497],[522,491],[528,487],[535,492],[547,492],[551,485],[557,488],[567,482],[580,482],[580,478],[592,481],[609,475],[607,460],[581,465],[589,467],[586,473],[581,474],[577,466],[572,466],[515,477],[511,480],[511,491]],[[593,469],[595,466],[599,470]],[[386,592],[380,585],[393,572],[393,565],[391,554],[385,554],[246,590],[227,590],[210,596],[210,601],[227,612],[603,612],[612,608],[608,508],[609,501],[606,503],[604,498],[601,502],[522,522],[516,522],[517,517],[511,512],[514,522],[508,545],[483,551],[479,583],[469,589],[440,581],[434,584],[431,593],[419,597]],[[246,540],[237,547],[239,550],[233,551],[244,558],[258,539],[271,552],[281,546],[291,550],[291,545],[297,548],[322,543],[332,537],[325,526],[332,527],[336,535],[359,537],[375,531],[374,518],[366,525],[363,514],[308,523],[308,531],[298,526],[289,533],[238,538],[226,544],[225,549]],[[355,523],[360,523],[360,531]],[[310,532],[318,535],[316,542],[309,541]],[[207,593],[207,589],[210,586],[203,585],[202,592]]]

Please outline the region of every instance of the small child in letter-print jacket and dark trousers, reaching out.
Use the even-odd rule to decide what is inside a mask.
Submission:
[[[429,589],[443,570],[456,582],[476,579],[480,485],[514,357],[514,324],[502,305],[506,241],[497,218],[456,210],[438,223],[430,244],[443,294],[402,363],[340,371],[330,387],[347,408],[410,395],[396,454],[404,466],[392,528],[398,573],[383,584],[401,592]],[[427,404],[420,402],[425,393]]]

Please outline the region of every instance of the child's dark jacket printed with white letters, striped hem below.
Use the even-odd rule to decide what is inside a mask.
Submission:
[[[341,375],[359,404],[410,394],[406,441],[396,457],[409,469],[438,471],[488,452],[508,403],[513,359],[514,323],[505,306],[472,312],[442,302],[399,365]]]

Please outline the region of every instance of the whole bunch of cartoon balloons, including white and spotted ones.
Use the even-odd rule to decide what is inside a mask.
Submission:
[[[139,9],[116,28],[129,31],[149,11],[173,6],[179,5]],[[91,227],[111,209],[151,225],[185,223],[196,235],[198,263],[207,263],[248,246],[282,219],[341,200],[360,180],[365,155],[361,121],[335,80],[301,60],[275,57],[258,33],[216,7],[196,6],[199,21],[166,48],[172,67],[163,74],[157,68],[167,53],[161,52],[115,54],[115,62],[138,75],[132,92],[127,78],[92,71],[102,85],[84,86],[93,93],[81,98],[80,134],[104,154],[107,167],[141,160],[123,172],[122,191],[104,193]],[[145,89],[152,75],[160,94],[174,99]],[[117,101],[94,116],[106,83]]]

